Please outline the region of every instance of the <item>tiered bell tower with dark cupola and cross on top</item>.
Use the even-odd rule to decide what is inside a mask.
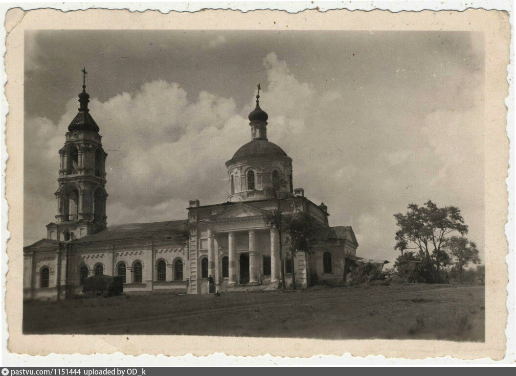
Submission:
[[[79,93],[79,112],[68,126],[65,146],[59,150],[60,168],[56,221],[48,224],[47,237],[71,241],[106,228],[107,154],[102,148],[99,126],[90,115],[90,96],[86,92],[86,69],[83,91]]]

